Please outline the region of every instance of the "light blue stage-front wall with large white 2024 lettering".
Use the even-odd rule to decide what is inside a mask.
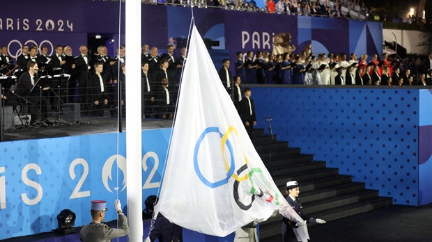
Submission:
[[[157,194],[170,131],[143,131],[143,200]],[[56,229],[63,209],[86,225],[91,200],[106,200],[105,220],[116,219],[117,192],[126,202],[125,133],[118,144],[117,157],[116,134],[0,143],[0,239]]]

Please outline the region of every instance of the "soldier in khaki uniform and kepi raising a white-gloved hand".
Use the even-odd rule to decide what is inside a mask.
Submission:
[[[91,218],[92,222],[89,225],[82,227],[79,232],[79,240],[82,242],[110,242],[111,239],[116,239],[125,236],[129,232],[128,218],[121,211],[121,203],[119,200],[114,202],[114,208],[118,213],[118,229],[108,227],[102,222],[105,218],[105,211],[108,209],[105,201],[91,201]]]

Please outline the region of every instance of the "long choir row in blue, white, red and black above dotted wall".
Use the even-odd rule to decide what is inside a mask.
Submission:
[[[311,48],[309,48],[311,49]],[[270,54],[248,51],[243,59],[237,53],[236,75],[243,83],[299,85],[432,85],[432,51],[427,58],[399,60],[383,54]]]

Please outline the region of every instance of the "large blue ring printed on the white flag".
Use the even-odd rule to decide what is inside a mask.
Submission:
[[[199,166],[198,166],[199,147],[201,146],[201,142],[203,141],[204,138],[206,138],[206,135],[208,133],[218,133],[220,138],[222,138],[224,136],[224,134],[219,132],[218,127],[208,127],[206,129],[204,129],[203,133],[201,134],[201,136],[199,136],[199,139],[196,141],[196,145],[195,145],[195,149],[194,149],[194,168],[195,168],[196,175],[203,182],[203,184],[205,184],[206,186],[208,186],[210,188],[217,188],[218,186],[222,186],[224,184],[227,184],[229,181],[229,178],[234,174],[234,168],[235,168],[234,167],[235,166],[234,152],[233,152],[233,147],[232,147],[231,143],[229,142],[229,140],[226,140],[226,146],[228,147],[228,150],[231,154],[231,167],[229,168],[229,171],[226,173],[226,178],[224,178],[220,181],[215,181],[215,182],[208,181],[208,179],[206,179],[206,177],[203,176],[203,174],[201,173],[201,170],[199,170]]]

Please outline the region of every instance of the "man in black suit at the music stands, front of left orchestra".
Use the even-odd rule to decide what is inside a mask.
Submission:
[[[29,113],[31,120],[38,119],[38,108],[40,107],[40,118],[42,121],[47,120],[47,100],[40,92],[49,90],[48,86],[38,83],[38,64],[36,61],[27,63],[28,72],[24,72],[17,83],[17,94],[24,99],[29,100]],[[34,87],[34,88],[33,88]]]

